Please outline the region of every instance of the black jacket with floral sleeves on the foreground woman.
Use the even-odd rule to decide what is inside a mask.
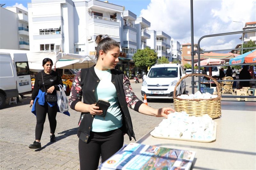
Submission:
[[[112,69],[111,74],[111,82],[116,88],[119,106],[122,112],[124,133],[129,136],[130,140],[132,140],[132,137],[134,140],[136,140],[132,128],[131,116],[127,106],[135,111],[139,111],[139,107],[143,102],[140,101],[133,93],[130,81],[124,72]],[[75,110],[76,103],[82,101],[82,97],[83,102],[86,104],[96,103],[97,101],[94,93],[96,92],[99,82],[100,79],[94,71],[94,66],[78,71],[73,80],[73,85],[70,92],[70,108]],[[89,112],[82,112],[79,119],[77,136],[86,143],[90,137],[93,118],[94,115],[91,115]]]

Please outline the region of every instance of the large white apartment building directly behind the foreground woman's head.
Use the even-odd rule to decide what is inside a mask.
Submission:
[[[107,34],[122,44],[123,7],[91,0],[32,0],[28,4],[33,51],[94,54],[95,38]]]

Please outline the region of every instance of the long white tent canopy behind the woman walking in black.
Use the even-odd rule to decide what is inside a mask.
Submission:
[[[53,61],[52,69],[56,68],[88,68],[97,62],[95,55],[79,55],[62,52],[31,52],[29,50],[8,50],[0,49],[4,53],[26,53],[28,57],[28,65],[31,71],[38,72],[43,69],[42,61],[44,58],[50,58]]]

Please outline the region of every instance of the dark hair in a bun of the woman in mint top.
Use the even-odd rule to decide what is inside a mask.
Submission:
[[[102,50],[104,53],[107,53],[109,50],[112,50],[115,47],[119,47],[119,43],[114,39],[108,37],[108,35],[97,35],[95,39],[96,44],[96,57],[99,58],[99,52]]]

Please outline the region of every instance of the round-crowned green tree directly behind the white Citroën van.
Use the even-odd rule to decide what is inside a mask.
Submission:
[[[147,70],[148,67],[156,64],[157,53],[150,48],[139,49],[132,57],[136,67]]]

